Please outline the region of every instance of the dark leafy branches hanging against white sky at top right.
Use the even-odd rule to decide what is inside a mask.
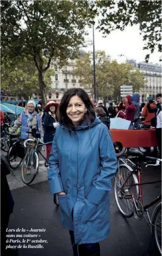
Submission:
[[[102,14],[98,28],[104,34],[127,25],[139,24],[145,41],[144,49],[162,51],[162,2],[160,0],[106,0],[96,1]],[[146,55],[148,62],[150,54]]]

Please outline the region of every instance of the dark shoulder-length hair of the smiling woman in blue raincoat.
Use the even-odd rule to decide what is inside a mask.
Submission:
[[[72,88],[65,92],[63,95],[60,105],[59,105],[59,123],[61,125],[66,126],[67,128],[73,128],[72,121],[68,118],[66,114],[67,105],[70,101],[70,99],[73,96],[78,96],[85,104],[87,108],[87,113],[84,116],[84,119],[81,123],[93,123],[95,121],[95,110],[94,106],[88,96],[88,94],[85,92],[85,90],[81,88]]]

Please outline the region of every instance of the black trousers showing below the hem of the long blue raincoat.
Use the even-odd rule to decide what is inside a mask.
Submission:
[[[69,233],[70,233],[71,244],[73,246],[73,256],[100,256],[99,243],[74,245],[74,232],[69,230]]]

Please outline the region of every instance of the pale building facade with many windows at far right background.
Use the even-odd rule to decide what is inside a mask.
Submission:
[[[145,87],[141,89],[141,101],[145,102],[147,95],[155,96],[162,92],[162,67],[159,64],[137,63],[134,60],[129,60],[129,63],[140,69],[140,72],[145,76]]]

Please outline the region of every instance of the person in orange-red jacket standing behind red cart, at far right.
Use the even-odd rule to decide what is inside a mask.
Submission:
[[[147,97],[147,103],[150,104],[151,108],[155,107],[152,96]],[[151,127],[151,119],[155,117],[155,113],[149,113],[148,104],[146,104],[144,106],[143,111],[142,111],[142,117],[145,117],[145,127],[144,128],[150,128]]]

